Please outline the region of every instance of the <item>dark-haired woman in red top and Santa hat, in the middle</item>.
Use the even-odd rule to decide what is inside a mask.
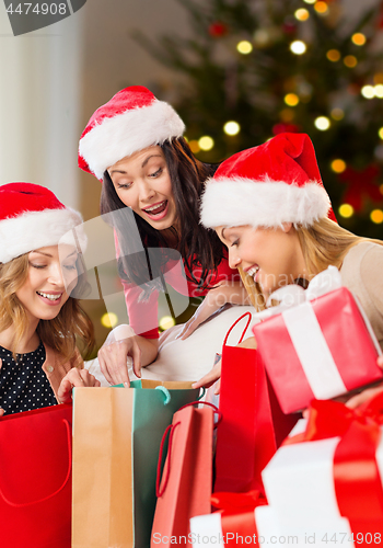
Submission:
[[[219,238],[199,224],[202,183],[217,167],[193,156],[183,132],[167,103],[143,87],[130,87],[97,109],[80,139],[79,165],[103,181],[101,213],[113,213],[108,218],[134,330],[98,352],[111,383],[128,383],[127,355],[138,376],[155,359],[158,297],[166,274],[181,294],[207,296],[184,338],[224,302],[247,298]]]

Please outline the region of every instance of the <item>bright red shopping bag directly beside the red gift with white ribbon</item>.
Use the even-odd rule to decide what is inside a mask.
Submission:
[[[249,312],[233,323],[222,346],[223,419],[217,433],[214,492],[263,491],[260,472],[299,418],[281,412],[258,352],[227,344],[231,330],[245,316],[242,342],[252,320]]]

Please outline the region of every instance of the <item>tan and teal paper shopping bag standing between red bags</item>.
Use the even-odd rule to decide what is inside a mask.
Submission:
[[[74,389],[73,548],[148,548],[161,438],[190,383]]]

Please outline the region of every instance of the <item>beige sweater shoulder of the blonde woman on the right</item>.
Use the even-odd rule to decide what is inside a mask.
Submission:
[[[359,298],[383,350],[383,246],[361,242],[340,269],[343,284]]]

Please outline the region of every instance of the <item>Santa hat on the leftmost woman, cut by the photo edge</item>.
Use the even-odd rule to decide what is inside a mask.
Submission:
[[[32,183],[0,186],[0,263],[35,249],[56,246],[63,235],[82,222],[55,194]]]

